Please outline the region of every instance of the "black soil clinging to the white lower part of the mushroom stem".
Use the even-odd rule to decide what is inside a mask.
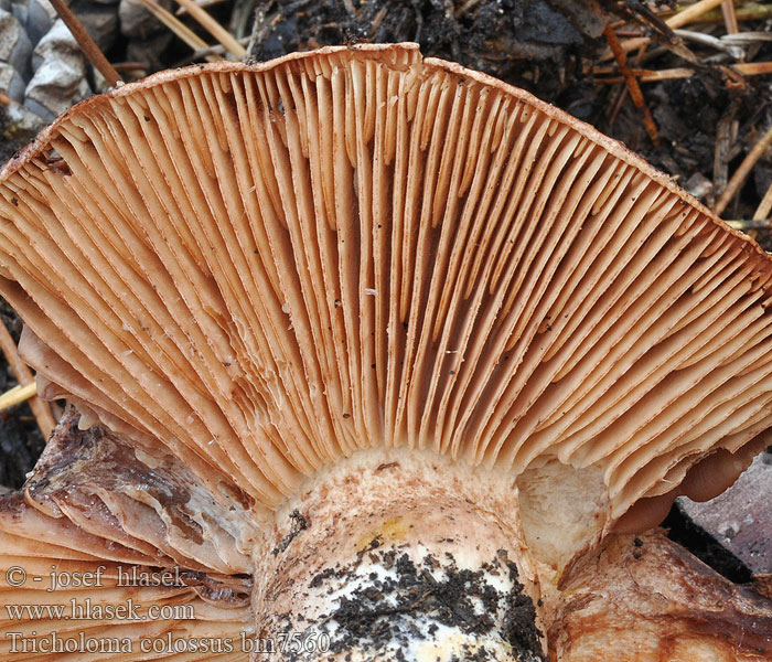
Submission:
[[[369,584],[357,588],[351,597],[340,598],[340,606],[326,615],[321,624],[331,632],[331,652],[364,649],[385,653],[397,645],[396,656],[403,659],[400,651],[407,650],[410,641],[426,637],[419,623],[431,623],[429,633],[442,624],[474,639],[496,630],[494,616],[498,613],[504,622],[502,636],[515,656],[532,662],[544,660],[534,602],[524,592],[517,579],[517,567],[504,549],[481,570],[472,572],[459,569],[450,554],[442,559],[427,555],[417,566],[397,549],[382,551],[375,538],[351,567],[320,573],[312,579],[312,587],[318,589],[330,580],[335,586],[341,579],[345,584],[363,556],[394,576],[379,579],[373,573]],[[441,579],[436,578],[438,568],[442,570]],[[511,590],[500,590],[487,580],[487,575],[502,574],[508,576]],[[470,650],[464,656],[468,662],[496,659],[497,655],[484,647]]]

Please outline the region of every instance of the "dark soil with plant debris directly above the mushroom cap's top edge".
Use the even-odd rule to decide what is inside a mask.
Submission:
[[[331,44],[411,41],[426,56],[459,62],[556,102],[580,76],[582,55],[599,52],[604,24],[592,0],[271,0],[258,10],[250,55],[270,60]]]

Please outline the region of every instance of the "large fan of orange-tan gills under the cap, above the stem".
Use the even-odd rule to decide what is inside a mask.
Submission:
[[[165,72],[0,178],[46,380],[215,494],[410,446],[602,473],[612,517],[766,444],[769,258],[642,160],[409,44]]]

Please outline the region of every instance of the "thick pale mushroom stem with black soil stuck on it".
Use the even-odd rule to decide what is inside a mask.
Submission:
[[[544,659],[503,474],[404,448],[356,453],[277,513],[256,568],[261,660],[271,645],[276,660]]]

